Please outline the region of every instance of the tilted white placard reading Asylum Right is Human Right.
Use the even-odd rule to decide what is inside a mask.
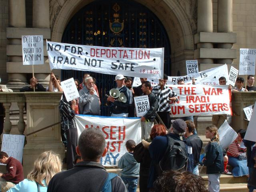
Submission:
[[[76,99],[79,96],[78,90],[76,88],[76,84],[74,81],[74,78],[70,78],[68,80],[60,82],[63,92],[66,96],[67,101],[71,101],[73,99]]]

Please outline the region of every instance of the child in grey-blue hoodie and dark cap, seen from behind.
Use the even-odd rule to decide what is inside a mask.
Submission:
[[[133,150],[136,146],[134,140],[128,140],[125,144],[126,152],[118,162],[118,168],[122,169],[121,178],[124,184],[128,184],[129,192],[136,192],[138,185],[138,177],[140,171],[140,164],[136,162],[133,157]]]

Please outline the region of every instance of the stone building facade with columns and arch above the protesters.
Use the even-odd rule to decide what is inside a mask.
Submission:
[[[0,77],[18,90],[27,84],[30,66],[22,65],[22,35],[43,35],[61,42],[72,17],[94,0],[0,0]],[[118,2],[118,1],[116,1]],[[238,68],[239,48],[256,47],[256,0],[135,0],[164,26],[171,46],[171,75],[186,74],[186,60],[198,59],[200,70],[219,64]],[[45,44],[45,42],[44,42]],[[36,77],[46,85],[50,67]],[[55,73],[60,74],[60,70]]]

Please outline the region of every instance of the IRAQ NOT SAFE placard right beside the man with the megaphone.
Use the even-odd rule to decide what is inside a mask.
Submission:
[[[134,104],[136,108],[137,117],[144,116],[150,108],[147,95],[134,97]]]

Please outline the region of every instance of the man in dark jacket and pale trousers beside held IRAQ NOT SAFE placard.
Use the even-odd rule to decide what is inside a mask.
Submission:
[[[149,138],[154,118],[156,117],[156,111],[158,109],[158,98],[151,92],[151,84],[149,81],[145,81],[142,84],[141,90],[143,95],[148,96],[150,108],[144,116],[141,117],[141,138]]]

